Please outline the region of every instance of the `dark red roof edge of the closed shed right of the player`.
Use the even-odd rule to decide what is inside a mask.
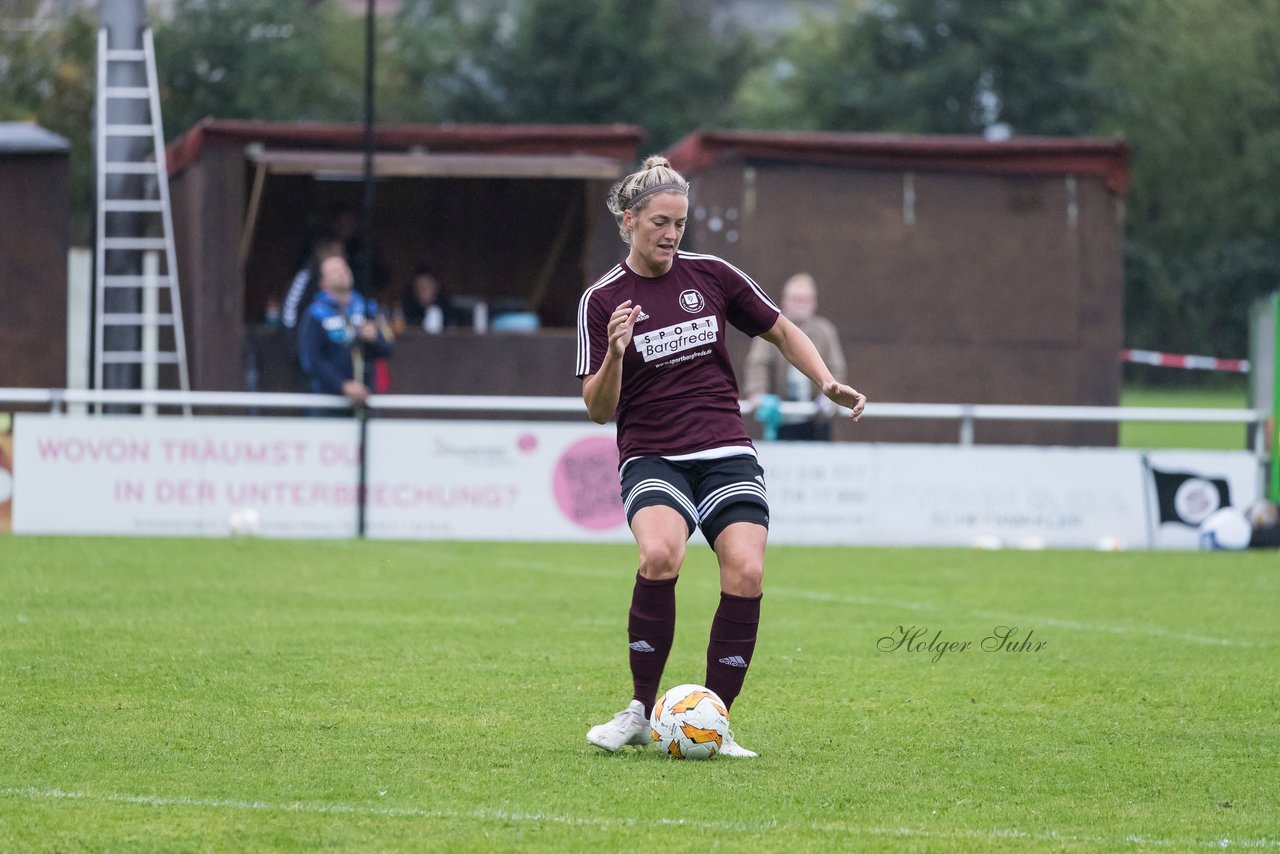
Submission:
[[[901,172],[1084,174],[1103,178],[1119,195],[1129,187],[1129,143],[1117,137],[992,142],[973,136],[707,131],[675,143],[667,156],[690,174],[736,157]]]

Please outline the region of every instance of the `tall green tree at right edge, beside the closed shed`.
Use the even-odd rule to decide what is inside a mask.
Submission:
[[[1243,356],[1280,288],[1280,1],[1130,0],[1105,76],[1133,145],[1126,342]]]

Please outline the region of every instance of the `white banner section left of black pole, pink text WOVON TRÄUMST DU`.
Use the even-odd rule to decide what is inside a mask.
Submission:
[[[338,419],[19,414],[13,530],[353,536],[356,442]]]

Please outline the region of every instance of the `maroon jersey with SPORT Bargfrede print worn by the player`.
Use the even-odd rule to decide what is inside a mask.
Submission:
[[[627,300],[643,311],[622,359],[620,460],[751,448],[724,335],[726,321],[753,337],[777,321],[778,307],[760,286],[714,255],[677,252],[657,278],[614,266],[579,302],[580,378],[600,370],[609,316]]]

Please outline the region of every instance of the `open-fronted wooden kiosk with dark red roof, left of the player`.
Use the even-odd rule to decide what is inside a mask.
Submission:
[[[430,259],[456,297],[540,319],[531,335],[410,330],[393,391],[576,393],[577,298],[621,256],[604,198],[643,138],[630,125],[378,127],[379,296]],[[207,119],[169,146],[193,388],[243,388],[246,353],[260,388],[291,388],[289,339],[264,323],[268,305],[325,216],[360,210],[362,140],[357,124]]]

